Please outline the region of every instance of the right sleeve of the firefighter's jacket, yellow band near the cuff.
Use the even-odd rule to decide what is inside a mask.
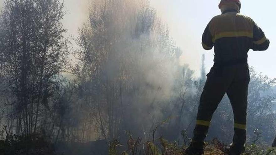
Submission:
[[[265,37],[261,28],[253,22],[253,45],[252,49],[254,51],[264,51],[268,49],[269,40]]]

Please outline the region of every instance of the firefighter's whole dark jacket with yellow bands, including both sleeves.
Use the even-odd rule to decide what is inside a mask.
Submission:
[[[214,46],[214,62],[223,64],[247,62],[249,49],[266,50],[269,40],[251,18],[230,10],[212,18],[204,31],[202,45],[206,50]]]

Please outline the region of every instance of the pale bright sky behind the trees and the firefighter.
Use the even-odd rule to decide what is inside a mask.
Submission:
[[[77,35],[82,23],[87,21],[89,0],[64,0],[64,26],[68,35]],[[205,54],[207,72],[213,65],[213,50],[205,51],[201,47],[201,36],[210,19],[220,14],[220,0],[150,0],[157,9],[158,16],[167,24],[171,37],[183,50],[181,64],[189,64],[199,74],[201,55]],[[3,3],[3,0],[0,0]],[[276,20],[272,0],[241,0],[241,13],[251,17],[265,32],[270,40],[267,51],[252,51],[248,55],[248,63],[257,72],[276,78]]]

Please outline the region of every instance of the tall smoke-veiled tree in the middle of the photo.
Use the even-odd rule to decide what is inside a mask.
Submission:
[[[150,130],[154,107],[170,96],[177,63],[177,48],[155,10],[144,0],[95,0],[78,44],[73,72],[83,106],[97,114],[100,137]]]

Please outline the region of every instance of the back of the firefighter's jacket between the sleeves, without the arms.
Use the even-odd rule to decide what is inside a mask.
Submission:
[[[214,17],[210,33],[215,47],[215,62],[247,60],[252,47],[254,22],[251,18],[235,12]]]

